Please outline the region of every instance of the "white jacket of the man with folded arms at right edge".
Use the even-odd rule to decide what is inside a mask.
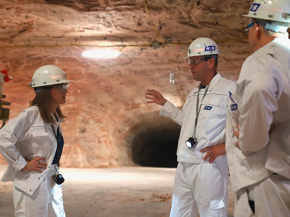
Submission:
[[[273,173],[290,179],[289,39],[275,38],[249,56],[230,97],[226,153],[234,192]],[[236,123],[240,148],[234,144]]]

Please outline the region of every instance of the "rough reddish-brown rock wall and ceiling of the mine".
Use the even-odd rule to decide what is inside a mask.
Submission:
[[[62,106],[69,116],[62,125],[63,166],[134,165],[134,138],[150,128],[173,124],[159,116],[160,106],[146,104],[146,89],[157,89],[181,107],[198,84],[181,59],[194,39],[215,40],[222,52],[218,71],[231,80],[238,78],[250,54],[243,30],[248,20],[241,16],[250,1],[146,3],[160,37],[141,0],[0,0],[0,70],[7,69],[14,77],[5,83],[3,92],[12,103],[10,118],[34,97],[28,84],[41,65],[57,65],[68,79],[75,80]],[[152,42],[159,42],[160,47],[153,49]],[[81,55],[109,48],[102,46],[113,46],[122,54],[113,59]],[[170,66],[175,70],[173,87],[169,85]]]

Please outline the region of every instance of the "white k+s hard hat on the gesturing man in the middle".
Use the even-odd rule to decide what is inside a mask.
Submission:
[[[206,56],[220,54],[220,49],[218,49],[217,43],[209,38],[198,38],[195,39],[188,48],[188,54],[184,58],[189,58],[191,56]]]

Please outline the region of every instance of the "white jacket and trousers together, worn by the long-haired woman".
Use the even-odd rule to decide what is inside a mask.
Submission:
[[[54,128],[62,135],[60,122]],[[15,216],[65,217],[61,185],[53,179],[56,164],[52,165],[57,141],[49,123],[43,121],[37,106],[31,106],[11,119],[0,130],[0,152],[9,163],[1,181],[13,181]],[[28,160],[43,157],[47,168],[37,171],[21,171]]]

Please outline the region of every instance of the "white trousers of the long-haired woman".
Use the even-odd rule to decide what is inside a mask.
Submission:
[[[32,195],[13,187],[15,217],[65,217],[61,185],[53,179],[54,164]]]

